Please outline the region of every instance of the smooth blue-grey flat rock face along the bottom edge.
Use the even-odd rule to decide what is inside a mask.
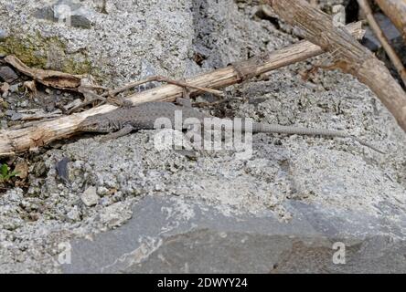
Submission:
[[[144,198],[122,228],[72,242],[65,273],[392,273],[406,268],[403,240],[378,217],[346,210],[290,206],[282,223],[272,212],[224,216],[181,198]],[[236,224],[238,222],[238,224]],[[392,227],[403,228],[405,224]],[[347,265],[334,261],[336,243]],[[372,256],[371,256],[372,255]]]

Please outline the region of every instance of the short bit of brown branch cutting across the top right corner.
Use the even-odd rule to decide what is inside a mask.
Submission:
[[[377,0],[377,3],[406,41],[406,0]]]

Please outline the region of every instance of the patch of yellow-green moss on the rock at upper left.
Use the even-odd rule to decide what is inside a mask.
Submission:
[[[55,36],[8,36],[0,42],[0,54],[15,55],[28,67],[54,69],[70,74],[91,73],[91,62],[83,53],[66,55],[65,51],[65,44]]]

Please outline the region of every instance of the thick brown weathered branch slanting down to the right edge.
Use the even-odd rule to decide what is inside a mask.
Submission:
[[[406,94],[388,68],[368,48],[334,26],[332,18],[305,0],[268,0],[273,10],[291,25],[300,27],[305,38],[335,57],[336,67],[369,86],[406,130]]]

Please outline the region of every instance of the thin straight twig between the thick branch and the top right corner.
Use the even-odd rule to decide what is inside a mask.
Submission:
[[[401,58],[398,57],[398,54],[396,54],[393,47],[390,47],[388,39],[386,38],[382,29],[380,29],[377,21],[375,20],[375,17],[372,14],[372,9],[369,6],[368,0],[358,0],[358,5],[361,7],[365,15],[367,16],[369,26],[372,28],[372,31],[374,32],[375,36],[378,37],[380,44],[382,44],[382,47],[385,49],[386,53],[388,54],[388,57],[390,57],[393,66],[396,68],[399,75],[401,76],[403,84],[406,86],[406,70],[403,67],[403,64],[401,63]]]

